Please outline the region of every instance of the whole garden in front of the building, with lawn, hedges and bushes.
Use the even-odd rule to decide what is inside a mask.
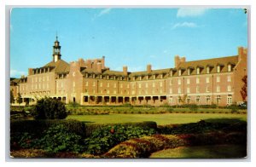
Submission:
[[[244,111],[170,113],[168,108],[169,112],[159,114],[124,113],[125,111],[99,114],[98,108],[93,108],[97,114],[78,115],[60,112],[60,108],[63,110],[66,108],[57,101],[55,105],[50,105],[48,104],[50,101],[43,101],[40,107],[34,107],[33,118],[26,115],[25,118],[11,119],[10,155],[12,157],[244,158],[247,156],[247,114],[243,113]],[[53,110],[49,106],[52,106]],[[43,107],[48,107],[46,112]],[[215,109],[214,112],[217,110]],[[223,112],[221,110],[219,111]]]

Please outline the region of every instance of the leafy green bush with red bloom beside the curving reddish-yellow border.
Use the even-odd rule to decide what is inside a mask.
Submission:
[[[144,130],[137,126],[115,125],[107,126],[96,130],[90,138],[85,139],[86,153],[102,154],[106,153],[111,147],[131,138],[138,138],[144,135],[154,134],[154,129]]]

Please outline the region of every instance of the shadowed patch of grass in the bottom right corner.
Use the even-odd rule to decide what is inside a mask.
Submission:
[[[246,156],[246,146],[214,145],[166,149],[152,153],[150,158],[244,158]]]

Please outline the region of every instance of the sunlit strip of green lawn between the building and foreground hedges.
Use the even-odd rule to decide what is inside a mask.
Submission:
[[[157,124],[195,123],[208,118],[239,118],[247,120],[247,114],[224,113],[165,113],[165,114],[108,114],[108,115],[69,115],[67,119],[76,119],[96,124],[155,121]]]

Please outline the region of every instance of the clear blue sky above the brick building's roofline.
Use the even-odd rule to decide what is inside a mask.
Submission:
[[[52,60],[56,32],[61,59],[106,57],[111,70],[143,71],[187,60],[237,55],[247,47],[243,9],[12,9],[10,77]]]

